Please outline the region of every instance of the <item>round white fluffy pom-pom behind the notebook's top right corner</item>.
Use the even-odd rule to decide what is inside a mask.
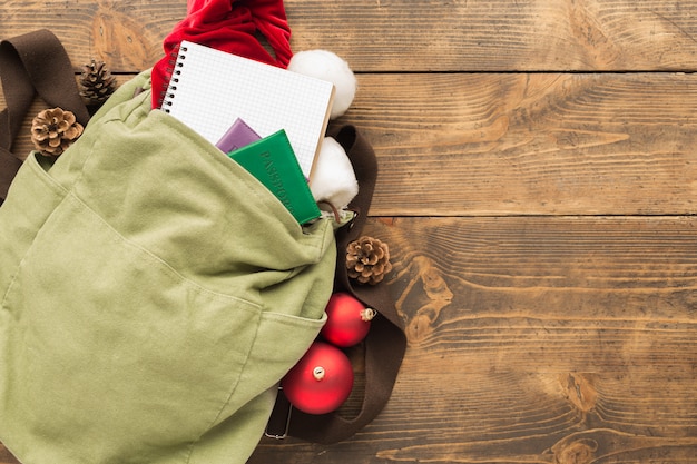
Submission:
[[[288,70],[334,83],[336,93],[330,118],[342,116],[356,93],[356,78],[348,63],[327,50],[305,50],[293,56]]]

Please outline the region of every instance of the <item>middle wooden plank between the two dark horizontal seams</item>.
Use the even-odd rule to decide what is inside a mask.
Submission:
[[[376,150],[375,216],[696,210],[696,75],[359,79],[337,124],[355,124]],[[31,148],[29,127],[28,119],[19,154]]]

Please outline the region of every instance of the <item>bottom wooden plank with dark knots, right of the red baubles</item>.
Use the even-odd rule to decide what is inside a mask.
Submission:
[[[697,246],[683,218],[396,218],[410,346],[390,404],[252,464],[691,463]]]

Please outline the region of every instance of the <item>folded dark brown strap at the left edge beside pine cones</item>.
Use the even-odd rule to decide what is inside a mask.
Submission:
[[[35,95],[50,107],[72,111],[81,125],[89,112],[80,98],[65,48],[46,29],[0,41],[0,81],[7,108],[0,112],[0,204],[21,166],[11,151]]]

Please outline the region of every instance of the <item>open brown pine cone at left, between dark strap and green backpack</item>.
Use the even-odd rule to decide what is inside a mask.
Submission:
[[[31,121],[31,141],[46,156],[60,156],[80,135],[82,125],[60,108],[45,109]]]

